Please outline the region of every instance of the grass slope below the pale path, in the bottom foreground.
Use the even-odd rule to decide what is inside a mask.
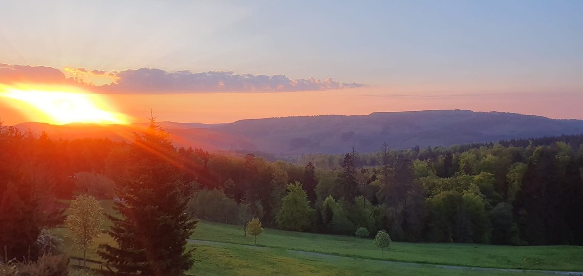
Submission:
[[[403,265],[363,258],[314,256],[239,244],[197,244],[194,275],[540,275],[451,270],[428,264]]]

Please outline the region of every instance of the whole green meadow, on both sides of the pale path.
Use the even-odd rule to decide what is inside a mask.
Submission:
[[[111,212],[111,201],[101,202]],[[106,223],[104,229],[111,224]],[[81,253],[66,238],[68,230],[55,232],[65,237],[64,250],[70,256]],[[193,275],[518,275],[517,272],[469,271],[436,267],[431,264],[471,267],[518,268],[529,270],[583,271],[583,247],[511,247],[482,244],[391,243],[382,258],[371,239],[319,235],[265,229],[258,237],[244,237],[242,226],[201,221],[192,239],[217,243],[194,244]],[[97,244],[113,243],[107,235],[98,237],[87,258],[100,260]],[[296,252],[300,250],[307,252]],[[332,254],[323,256],[310,252]],[[418,264],[395,264],[378,260]],[[519,275],[539,275],[520,272]]]

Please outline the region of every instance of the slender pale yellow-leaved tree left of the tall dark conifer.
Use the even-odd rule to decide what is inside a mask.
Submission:
[[[83,267],[86,267],[87,249],[93,244],[93,238],[101,233],[103,222],[103,208],[91,195],[79,195],[71,201],[65,223],[71,230],[73,244],[83,250]]]

